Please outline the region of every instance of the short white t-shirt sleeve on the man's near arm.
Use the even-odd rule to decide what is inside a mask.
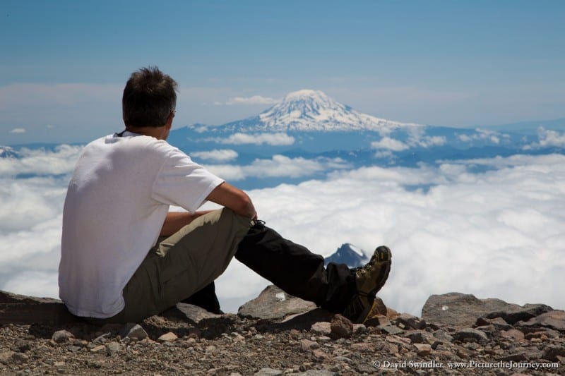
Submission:
[[[177,205],[196,212],[206,197],[224,181],[184,152],[169,152],[153,184],[153,199],[166,205]]]

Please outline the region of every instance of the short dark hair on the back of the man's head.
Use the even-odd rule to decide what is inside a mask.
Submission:
[[[162,73],[156,66],[131,73],[121,110],[126,126],[160,127],[177,105],[177,81]]]

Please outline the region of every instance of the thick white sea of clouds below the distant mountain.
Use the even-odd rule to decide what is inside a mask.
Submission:
[[[20,159],[0,158],[1,290],[57,298],[61,212],[80,152],[61,145],[24,150]],[[225,160],[232,157],[222,153]],[[295,176],[297,162],[319,164],[270,160],[278,171],[286,165],[289,176]],[[217,173],[230,181],[261,166],[254,163],[225,164]],[[323,180],[249,191],[259,217],[322,255],[343,243],[367,252],[388,245],[393,267],[379,296],[391,308],[420,315],[429,295],[458,291],[565,309],[564,155],[416,168],[321,166],[327,171]],[[216,290],[222,308],[234,312],[267,284],[234,260]]]

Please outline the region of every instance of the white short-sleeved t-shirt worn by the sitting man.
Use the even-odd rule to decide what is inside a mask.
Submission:
[[[169,205],[195,212],[223,180],[164,140],[125,133],[88,144],[63,211],[59,297],[74,315],[107,318],[159,237]]]

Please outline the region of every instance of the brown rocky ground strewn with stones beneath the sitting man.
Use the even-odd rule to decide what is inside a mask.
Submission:
[[[367,325],[273,286],[237,315],[179,304],[138,325],[61,306],[0,292],[1,375],[565,375],[564,311],[461,293]]]

